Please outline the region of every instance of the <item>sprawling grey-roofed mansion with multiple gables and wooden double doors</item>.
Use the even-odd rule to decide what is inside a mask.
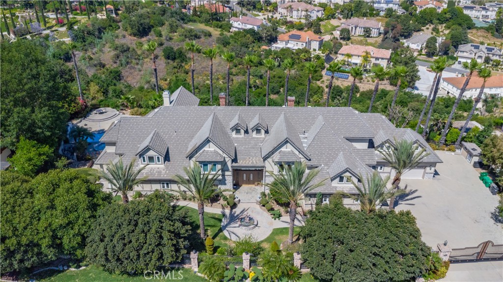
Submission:
[[[222,169],[215,186],[225,189],[270,183],[269,172],[305,162],[308,170],[320,170],[315,181],[328,179],[306,195],[303,206],[309,208],[318,192],[326,200],[337,191],[357,193],[351,181],[360,183],[374,171],[393,177],[377,149],[389,150],[400,139],[429,153],[402,179],[433,178],[442,161],[428,143],[381,114],[348,107],[163,106],[112,125],[101,138],[106,148],[94,168],[104,169],[119,156],[125,163],[136,160],[136,167],[148,164],[140,174],[147,180],[134,190],[150,193],[178,189],[174,176],[194,162],[205,173]]]

